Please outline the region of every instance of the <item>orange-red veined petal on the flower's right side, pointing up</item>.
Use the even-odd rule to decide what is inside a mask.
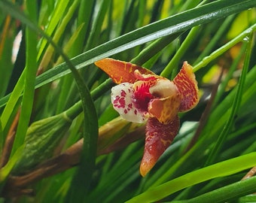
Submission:
[[[193,68],[187,62],[183,63],[181,71],[173,80],[178,92],[181,94],[181,106],[179,111],[189,111],[199,102],[197,80]]]

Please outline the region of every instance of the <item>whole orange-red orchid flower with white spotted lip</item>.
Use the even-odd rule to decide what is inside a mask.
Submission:
[[[184,62],[171,81],[129,62],[107,58],[95,64],[118,84],[111,89],[111,102],[120,116],[146,123],[140,165],[144,177],[178,134],[178,112],[189,111],[199,102],[193,68]]]

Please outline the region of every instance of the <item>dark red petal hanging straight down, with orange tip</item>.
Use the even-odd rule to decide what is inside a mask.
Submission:
[[[178,128],[178,116],[166,125],[160,123],[154,117],[148,119],[146,126],[145,150],[140,165],[140,173],[143,177],[148,174],[148,171],[153,168],[159,157],[172,143],[172,140],[178,134]]]

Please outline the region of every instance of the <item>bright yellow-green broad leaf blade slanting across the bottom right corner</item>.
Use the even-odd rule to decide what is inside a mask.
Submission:
[[[166,183],[148,189],[140,195],[126,201],[131,202],[154,202],[171,195],[174,192],[184,189],[188,186],[202,183],[206,180],[211,180],[215,177],[223,177],[230,174],[236,174],[239,171],[243,171],[247,168],[251,168],[256,165],[256,153],[249,153],[244,156],[239,156],[233,159],[229,159],[224,162],[218,162],[215,165],[209,165],[206,168],[201,168],[197,171],[192,171],[188,174],[184,174]]]

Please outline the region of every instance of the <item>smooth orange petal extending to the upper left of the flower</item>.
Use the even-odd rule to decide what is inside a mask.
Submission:
[[[95,62],[95,65],[105,71],[114,83],[135,83],[138,79],[134,75],[134,71],[139,70],[141,74],[154,74],[146,68],[130,62],[122,62],[115,59],[101,59]]]

